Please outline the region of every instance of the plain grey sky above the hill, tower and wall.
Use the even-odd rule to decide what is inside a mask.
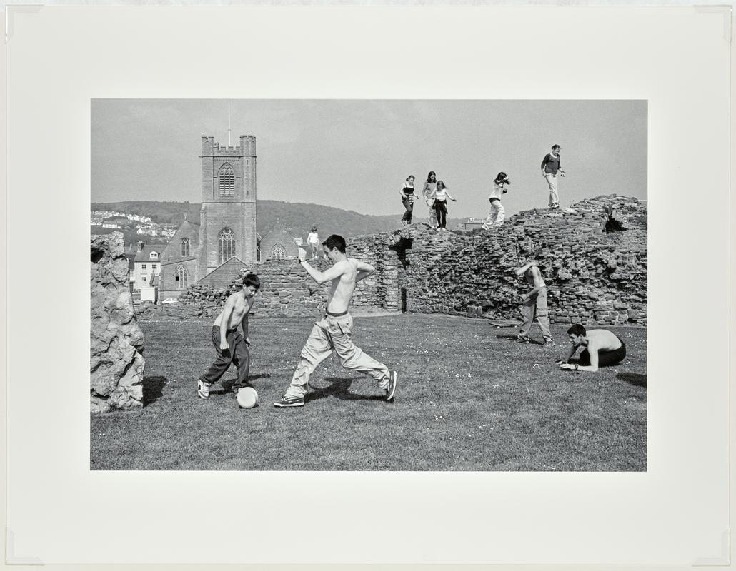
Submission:
[[[227,99],[93,99],[93,202],[202,201],[202,135],[227,144]],[[646,198],[647,104],[623,101],[231,100],[231,144],[256,137],[257,196],[397,215],[409,175],[430,170],[482,218],[496,174],[507,215],[546,207],[553,144],[562,207],[602,194]]]

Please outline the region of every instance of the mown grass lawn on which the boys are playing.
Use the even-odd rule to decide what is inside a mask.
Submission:
[[[356,317],[356,345],[399,372],[394,403],[372,379],[317,368],[306,406],[275,409],[314,320],[252,320],[260,406],[238,409],[235,368],[197,398],[209,321],[142,322],[144,409],[91,417],[93,470],[646,470],[646,331],[612,328],[624,362],[598,373],[518,345],[514,328],[442,315]],[[538,326],[532,335],[541,340]]]

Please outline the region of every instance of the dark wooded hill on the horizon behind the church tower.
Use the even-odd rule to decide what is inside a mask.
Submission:
[[[92,210],[114,210],[149,216],[159,224],[179,224],[185,213],[188,220],[199,223],[201,207],[201,204],[194,202],[161,201],[93,202],[91,205]],[[420,216],[415,218],[426,220],[425,211],[423,204],[417,204],[416,212]],[[401,214],[399,211],[394,216],[374,216],[320,204],[263,200],[258,201],[256,206],[256,229],[263,236],[279,220],[286,228],[291,229],[295,237],[301,236],[304,240],[311,227],[316,226],[319,237],[324,240],[330,234],[360,236],[395,230],[401,227]],[[452,228],[460,221],[460,218],[448,218],[447,227]]]

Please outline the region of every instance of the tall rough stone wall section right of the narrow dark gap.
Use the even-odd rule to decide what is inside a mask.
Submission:
[[[548,285],[552,323],[644,325],[644,205],[610,195],[572,210],[528,210],[469,234],[403,229],[395,248],[405,259],[398,287],[406,311],[517,319],[519,295],[529,287],[514,268],[520,256],[533,256]]]

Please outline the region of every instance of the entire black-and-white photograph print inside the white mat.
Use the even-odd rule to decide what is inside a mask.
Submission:
[[[93,470],[646,470],[647,102],[91,101]]]

